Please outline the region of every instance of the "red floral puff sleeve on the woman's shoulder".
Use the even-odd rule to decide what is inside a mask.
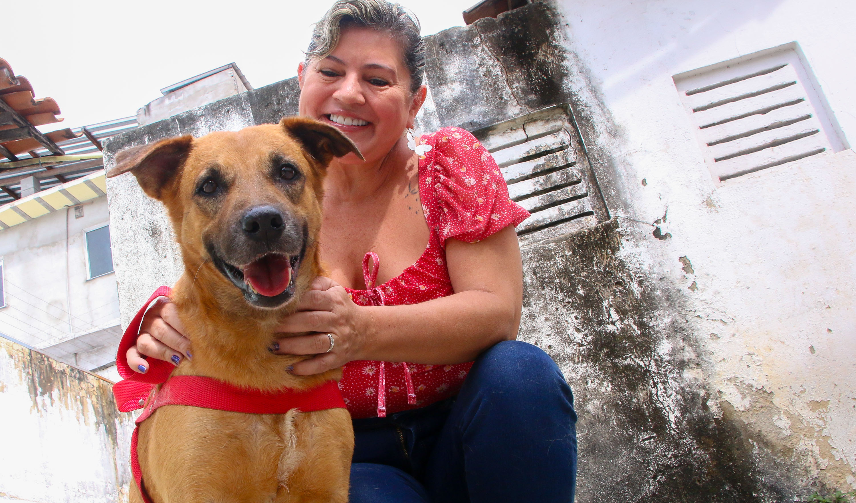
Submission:
[[[529,217],[508,199],[496,161],[469,131],[443,128],[421,143],[431,146],[419,177],[425,218],[443,245],[449,237],[475,243]]]

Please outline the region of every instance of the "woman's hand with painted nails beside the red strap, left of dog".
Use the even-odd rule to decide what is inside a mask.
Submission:
[[[175,304],[166,299],[160,299],[146,311],[140,323],[140,337],[137,344],[131,346],[126,353],[128,366],[134,372],[146,374],[149,363],[146,356],[158,358],[175,365],[181,363],[185,356],[191,357],[190,340],[182,335],[184,326],[178,319]]]

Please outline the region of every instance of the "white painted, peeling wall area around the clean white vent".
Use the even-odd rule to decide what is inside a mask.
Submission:
[[[853,141],[856,3],[556,4],[571,78],[600,104],[594,135],[611,157],[598,176],[615,177],[607,205],[635,230],[623,254],[686,292],[712,402],[799,460],[806,482],[856,488],[856,154],[717,186],[672,80],[796,41]],[[664,215],[661,241],[651,231]]]

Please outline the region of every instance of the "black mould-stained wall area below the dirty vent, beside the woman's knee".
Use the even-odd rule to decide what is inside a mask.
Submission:
[[[613,219],[523,252],[520,338],[547,350],[574,389],[578,500],[782,500],[793,477],[764,470],[775,456],[714,413],[700,344],[676,314],[682,294],[627,261],[621,231]]]

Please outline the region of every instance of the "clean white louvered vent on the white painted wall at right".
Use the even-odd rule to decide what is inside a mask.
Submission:
[[[846,148],[800,55],[792,43],[675,75],[716,179]]]

